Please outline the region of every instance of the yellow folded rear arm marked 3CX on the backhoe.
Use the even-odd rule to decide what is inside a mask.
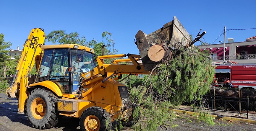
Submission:
[[[36,63],[37,68],[41,60],[41,46],[44,44],[45,34],[41,28],[34,28],[23,45],[23,51],[18,62],[12,85],[6,90],[11,98],[19,98],[19,107],[24,106],[28,97],[26,88],[29,85],[29,72]],[[21,92],[21,93],[20,93]],[[19,94],[22,94],[21,96]],[[20,111],[19,111],[20,112]]]

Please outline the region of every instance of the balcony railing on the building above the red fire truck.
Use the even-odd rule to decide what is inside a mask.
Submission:
[[[225,56],[225,60],[237,60],[237,59],[256,59],[256,54]],[[223,60],[223,56],[212,56],[212,60]]]

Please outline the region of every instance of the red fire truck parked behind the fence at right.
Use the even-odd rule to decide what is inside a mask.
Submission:
[[[215,66],[215,79],[213,85],[224,86],[230,80],[233,88],[254,88],[256,89],[256,64],[225,64]]]

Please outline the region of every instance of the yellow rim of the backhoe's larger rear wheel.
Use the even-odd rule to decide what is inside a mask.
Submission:
[[[42,98],[35,98],[31,104],[31,113],[35,119],[42,119],[46,112],[46,104]]]

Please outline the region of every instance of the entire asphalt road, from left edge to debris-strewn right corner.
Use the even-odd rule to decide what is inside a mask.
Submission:
[[[0,131],[42,131],[32,128],[25,114],[17,114],[18,101],[0,93]],[[177,114],[172,122],[166,122],[166,127],[158,127],[161,131],[256,131],[256,125],[242,122],[214,120],[215,125],[209,126],[197,122],[196,116]],[[44,131],[80,131],[79,119],[63,117],[61,123]],[[132,131],[125,128],[123,131]]]

